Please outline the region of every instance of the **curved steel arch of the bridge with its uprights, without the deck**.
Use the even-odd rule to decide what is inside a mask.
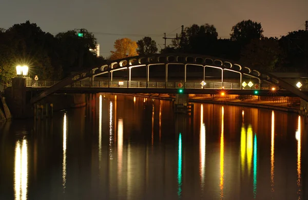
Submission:
[[[127,70],[127,82],[131,81],[131,69],[136,67],[146,67],[146,80],[149,82],[150,67],[164,65],[165,66],[165,82],[168,82],[168,65],[183,65],[184,66],[184,82],[187,77],[187,66],[198,66],[203,67],[203,81],[205,81],[205,68],[216,68],[221,70],[221,82],[223,83],[224,71],[232,71],[240,74],[240,81],[242,83],[242,76],[248,76],[257,78],[259,83],[269,83],[282,87],[296,96],[301,97],[305,101],[308,101],[308,95],[303,93],[298,88],[286,83],[282,79],[272,75],[271,73],[263,73],[259,70],[251,67],[242,66],[234,61],[227,59],[196,55],[196,54],[180,54],[180,53],[168,53],[168,54],[151,54],[151,55],[140,55],[118,59],[115,61],[107,61],[101,67],[89,68],[73,75],[64,78],[62,81],[54,84],[48,90],[40,93],[39,95],[31,99],[31,103],[40,101],[42,98],[49,94],[56,92],[64,88],[65,86],[71,85],[74,82],[85,80],[89,78],[93,81],[95,76],[108,74],[109,81],[113,80],[113,73],[119,70]]]

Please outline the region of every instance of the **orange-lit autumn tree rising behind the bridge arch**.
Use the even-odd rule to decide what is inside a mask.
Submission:
[[[111,60],[138,55],[136,51],[136,49],[138,48],[137,43],[127,37],[117,39],[114,42],[113,47],[115,51],[110,51]]]

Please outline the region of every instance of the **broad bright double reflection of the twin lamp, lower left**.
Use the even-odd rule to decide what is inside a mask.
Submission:
[[[15,180],[14,190],[16,200],[27,199],[28,188],[28,153],[27,153],[27,141],[22,139],[16,142],[15,147]]]

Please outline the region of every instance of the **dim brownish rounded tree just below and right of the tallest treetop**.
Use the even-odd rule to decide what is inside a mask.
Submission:
[[[262,71],[273,71],[283,62],[277,38],[253,39],[241,51],[240,63]]]

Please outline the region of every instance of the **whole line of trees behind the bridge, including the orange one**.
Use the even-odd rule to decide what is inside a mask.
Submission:
[[[79,32],[83,35],[80,37]],[[26,21],[9,29],[0,29],[0,83],[15,76],[15,66],[28,65],[29,75],[40,79],[61,79],[74,71],[102,65],[106,59],[158,53],[156,42],[143,37],[135,42],[120,38],[108,58],[96,55],[97,39],[86,29],[69,30],[56,35],[46,33]],[[306,68],[308,32],[298,30],[280,38],[263,35],[261,23],[244,20],[232,27],[229,38],[218,38],[214,25],[185,27],[179,37],[160,53],[194,53],[231,59],[256,69]]]

